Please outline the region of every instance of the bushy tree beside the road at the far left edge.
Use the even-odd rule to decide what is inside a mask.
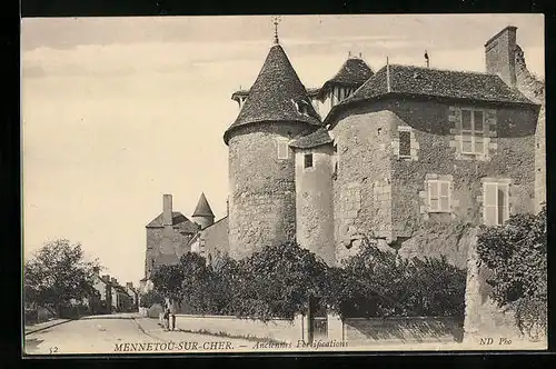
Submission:
[[[87,261],[81,245],[66,239],[47,242],[23,266],[26,301],[53,307],[58,313],[71,299],[95,296],[93,276],[99,263]]]

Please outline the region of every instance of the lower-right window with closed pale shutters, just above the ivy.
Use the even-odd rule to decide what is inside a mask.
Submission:
[[[487,226],[502,226],[509,218],[509,184],[483,183],[483,221]]]

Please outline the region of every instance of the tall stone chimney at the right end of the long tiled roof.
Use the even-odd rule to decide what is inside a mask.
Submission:
[[[508,26],[485,43],[486,72],[499,76],[506,84],[516,84],[517,27]]]

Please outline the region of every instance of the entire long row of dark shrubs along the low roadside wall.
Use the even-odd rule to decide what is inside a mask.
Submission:
[[[178,281],[181,279],[181,285]],[[155,288],[193,313],[268,320],[307,313],[309,300],[342,317],[463,316],[466,273],[444,259],[404,260],[369,243],[329,267],[296,243],[207,265],[188,252],[153,273]]]

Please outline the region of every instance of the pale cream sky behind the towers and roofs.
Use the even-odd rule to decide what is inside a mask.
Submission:
[[[484,44],[516,26],[544,77],[540,14],[288,16],[279,38],[307,88],[359,53],[390,63],[484,71]],[[224,131],[231,93],[257,78],[270,17],[26,18],[22,46],[23,255],[58,238],[82,245],[120,282],[143,277],[145,226],[190,217],[205,192],[226,216]]]

